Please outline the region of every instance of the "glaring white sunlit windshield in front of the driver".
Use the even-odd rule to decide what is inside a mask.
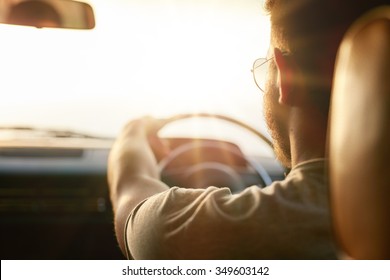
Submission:
[[[114,137],[134,118],[216,113],[266,133],[250,69],[259,0],[94,0],[93,30],[0,25],[0,125]]]

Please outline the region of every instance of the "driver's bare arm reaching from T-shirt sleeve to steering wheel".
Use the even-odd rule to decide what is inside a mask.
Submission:
[[[164,150],[156,135],[148,135],[152,124],[151,119],[130,122],[114,143],[108,160],[115,232],[123,253],[124,227],[130,212],[144,199],[169,188],[160,181],[156,158],[149,145],[148,137],[151,137],[154,148]]]

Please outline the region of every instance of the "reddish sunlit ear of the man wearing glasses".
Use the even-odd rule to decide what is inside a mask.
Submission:
[[[274,49],[274,58],[278,69],[279,103],[295,106],[298,102],[298,92],[294,92],[293,83],[296,74],[295,64],[278,48]]]

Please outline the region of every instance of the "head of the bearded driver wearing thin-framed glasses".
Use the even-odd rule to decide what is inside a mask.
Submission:
[[[265,0],[271,19],[264,109],[275,150],[291,166],[292,108],[315,112],[310,125],[326,133],[337,49],[348,27],[389,0]],[[305,120],[303,119],[303,122]],[[296,139],[295,139],[296,140]]]

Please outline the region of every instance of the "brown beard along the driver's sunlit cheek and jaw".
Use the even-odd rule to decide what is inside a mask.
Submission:
[[[276,158],[287,168],[291,168],[291,149],[288,134],[288,112],[279,104],[279,88],[268,83],[264,94],[264,117],[273,143]]]

